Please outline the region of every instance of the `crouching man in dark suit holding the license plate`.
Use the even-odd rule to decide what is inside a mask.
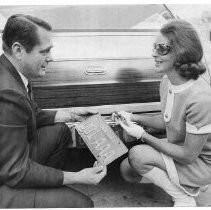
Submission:
[[[66,185],[98,184],[106,168],[78,172],[61,168],[71,141],[64,122],[89,111],[43,111],[30,79],[45,75],[52,60],[51,26],[36,17],[13,15],[3,30],[0,57],[0,208],[92,207],[91,199]]]

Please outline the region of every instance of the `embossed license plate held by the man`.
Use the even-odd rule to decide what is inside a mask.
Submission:
[[[100,114],[92,115],[79,123],[76,130],[102,165],[108,165],[128,152],[127,147]]]

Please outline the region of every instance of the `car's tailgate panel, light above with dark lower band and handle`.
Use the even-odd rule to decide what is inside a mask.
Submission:
[[[33,80],[38,104],[59,108],[158,101],[162,75],[154,72],[151,57],[156,34],[71,33],[61,39],[57,34],[54,61],[45,77]]]

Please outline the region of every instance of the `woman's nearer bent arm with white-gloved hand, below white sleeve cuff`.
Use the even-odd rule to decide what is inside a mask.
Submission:
[[[159,152],[162,152],[183,164],[189,164],[194,161],[201,153],[202,148],[208,139],[208,134],[186,133],[184,144],[176,145],[153,137],[141,126],[136,125],[130,120],[126,120],[125,123],[122,120],[117,119],[117,122],[129,135],[145,141]]]

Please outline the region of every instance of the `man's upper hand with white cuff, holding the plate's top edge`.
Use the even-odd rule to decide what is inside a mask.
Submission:
[[[98,112],[92,109],[69,109],[69,110],[58,110],[55,116],[54,122],[81,122],[88,116],[97,114]]]

